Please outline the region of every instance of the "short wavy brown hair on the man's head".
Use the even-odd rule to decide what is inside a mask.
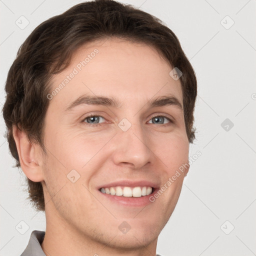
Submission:
[[[44,118],[49,100],[47,86],[52,74],[66,68],[79,46],[109,37],[119,37],[153,46],[180,77],[184,121],[189,143],[195,138],[193,111],[197,94],[194,70],[176,35],[158,18],[132,5],[114,0],[94,0],[74,5],[38,25],[17,52],[5,84],[3,118],[6,137],[16,167],[20,167],[12,124],[26,132],[30,142],[43,145]],[[29,199],[37,210],[45,210],[41,182],[27,178]]]

